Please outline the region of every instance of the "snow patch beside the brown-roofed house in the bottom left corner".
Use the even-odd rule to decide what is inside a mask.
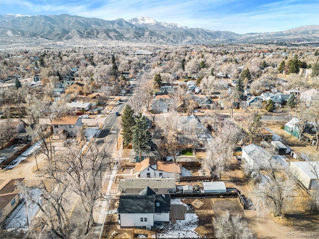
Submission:
[[[40,196],[40,190],[38,188],[33,188],[32,194],[34,195],[34,198]],[[26,205],[25,205],[26,204]],[[27,210],[25,211],[25,208]],[[22,228],[27,229],[27,220],[26,215],[28,215],[29,223],[31,223],[33,217],[39,210],[39,207],[35,204],[31,203],[30,201],[23,201],[20,203],[12,212],[11,214],[5,219],[4,225],[5,229],[8,231]]]

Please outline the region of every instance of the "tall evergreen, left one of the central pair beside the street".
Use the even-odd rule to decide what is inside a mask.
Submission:
[[[134,110],[130,105],[126,105],[122,115],[122,131],[124,145],[129,145],[132,142],[133,126],[135,125]]]

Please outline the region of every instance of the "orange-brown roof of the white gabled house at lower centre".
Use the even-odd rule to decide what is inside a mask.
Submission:
[[[135,171],[142,172],[151,165],[157,165],[157,170],[169,173],[180,173],[180,167],[176,163],[156,160],[153,157],[147,157],[140,163],[135,163]]]

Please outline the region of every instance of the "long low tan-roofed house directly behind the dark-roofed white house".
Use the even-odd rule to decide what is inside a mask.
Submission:
[[[121,195],[139,195],[143,189],[150,187],[156,194],[175,193],[175,178],[122,178],[118,191]]]

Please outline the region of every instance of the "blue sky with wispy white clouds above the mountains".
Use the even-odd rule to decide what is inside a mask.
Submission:
[[[156,21],[235,33],[319,24],[319,0],[0,0],[0,14],[58,15],[105,20],[150,16]]]

